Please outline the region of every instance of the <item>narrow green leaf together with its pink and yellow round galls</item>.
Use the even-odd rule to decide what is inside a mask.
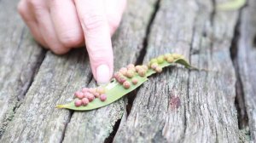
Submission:
[[[119,100],[125,94],[148,80],[147,77],[154,73],[162,72],[166,66],[175,66],[180,64],[189,69],[196,69],[189,65],[181,54],[165,54],[156,57],[147,64],[147,66],[134,66],[129,64],[122,67],[119,72],[113,74],[113,80],[105,86],[98,88],[83,88],[74,94],[75,99],[67,104],[58,105],[57,108],[67,108],[75,111],[88,111],[107,106],[116,100]]]

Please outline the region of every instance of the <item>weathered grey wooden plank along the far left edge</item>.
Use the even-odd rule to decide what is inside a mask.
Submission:
[[[17,2],[0,3],[0,138],[44,59],[16,12]]]

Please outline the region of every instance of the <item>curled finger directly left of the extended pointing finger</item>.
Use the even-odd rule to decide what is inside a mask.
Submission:
[[[73,0],[50,0],[49,11],[59,41],[68,48],[84,43],[84,33]]]

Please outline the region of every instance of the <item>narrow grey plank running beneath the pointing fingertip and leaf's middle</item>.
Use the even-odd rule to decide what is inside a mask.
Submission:
[[[143,39],[151,14],[154,12],[155,0],[128,1],[119,31],[113,38],[115,69],[135,63],[143,48]],[[139,10],[137,10],[139,9]],[[95,83],[90,83],[95,86]],[[124,100],[91,112],[74,112],[63,142],[104,142],[113,131],[114,124],[125,112]]]

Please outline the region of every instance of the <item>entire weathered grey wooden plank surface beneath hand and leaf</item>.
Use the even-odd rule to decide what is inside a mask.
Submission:
[[[96,86],[86,51],[40,48],[18,0],[0,0],[0,142],[253,142],[256,2],[214,9],[224,2],[128,0],[113,36],[115,70],[176,52],[207,71],[168,67],[128,98],[71,112],[55,106]]]

